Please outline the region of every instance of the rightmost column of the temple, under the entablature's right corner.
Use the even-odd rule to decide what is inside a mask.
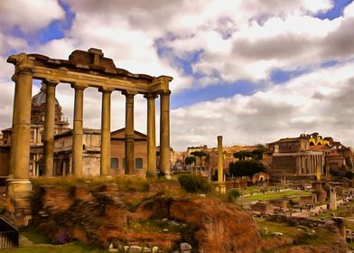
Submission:
[[[160,93],[160,170],[170,179],[170,94]]]

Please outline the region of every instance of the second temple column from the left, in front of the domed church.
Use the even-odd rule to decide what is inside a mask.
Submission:
[[[54,120],[55,120],[55,86],[59,81],[43,81],[45,88],[45,121],[44,121],[44,173],[53,174],[54,160]]]

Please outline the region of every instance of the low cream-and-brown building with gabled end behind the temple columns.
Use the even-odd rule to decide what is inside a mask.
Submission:
[[[110,172],[111,175],[125,174],[125,128],[111,132]],[[101,133],[98,129],[83,129],[82,174],[99,175]],[[144,175],[147,168],[146,136],[135,131],[135,174]],[[72,130],[54,136],[54,175],[71,173]]]

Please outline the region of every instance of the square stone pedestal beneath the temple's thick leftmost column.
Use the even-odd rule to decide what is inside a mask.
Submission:
[[[6,181],[6,216],[17,227],[28,225],[32,219],[32,183],[26,179]]]

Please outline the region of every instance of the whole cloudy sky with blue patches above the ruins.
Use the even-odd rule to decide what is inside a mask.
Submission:
[[[219,135],[225,145],[252,145],[312,132],[354,145],[352,1],[2,0],[0,16],[0,129],[12,122],[9,55],[67,59],[94,47],[118,68],[173,77],[175,150],[216,146]],[[73,95],[57,87],[70,122]],[[85,95],[84,126],[98,128],[100,93]],[[111,116],[112,129],[124,127],[120,92]],[[146,133],[141,95],[135,129]]]

